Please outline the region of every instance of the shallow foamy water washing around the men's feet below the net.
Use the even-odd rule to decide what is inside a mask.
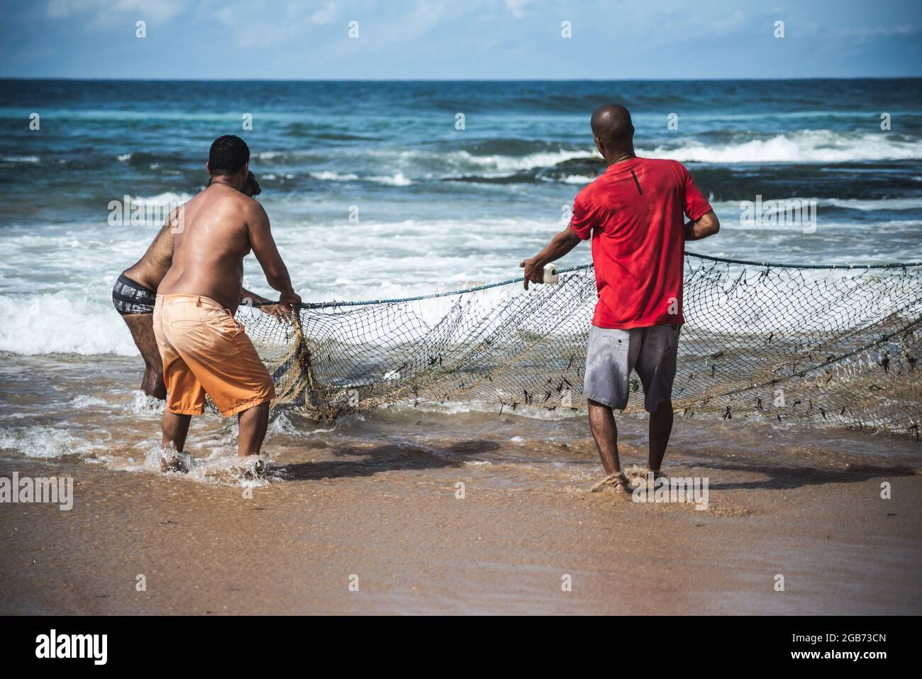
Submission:
[[[89,369],[88,369],[89,367]],[[162,402],[136,390],[139,360],[19,357],[0,366],[0,455],[101,465],[160,474]],[[483,467],[488,487],[537,482],[587,488],[604,476],[585,416],[537,411],[528,417],[495,408],[399,405],[317,423],[296,409],[274,411],[265,450],[269,482],[372,476],[388,472]],[[646,417],[618,417],[625,464],[645,461]],[[195,457],[190,481],[238,484],[236,418],[195,417],[186,450]],[[666,467],[763,471],[783,487],[797,470],[835,474],[860,469],[911,473],[922,464],[913,440],[809,423],[776,423],[714,415],[677,416]],[[791,476],[793,474],[793,477]],[[256,485],[265,484],[255,483]]]

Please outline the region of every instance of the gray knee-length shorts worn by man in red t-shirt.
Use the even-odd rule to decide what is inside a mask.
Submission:
[[[660,403],[672,398],[680,328],[589,328],[583,383],[585,398],[623,411],[631,393],[631,371],[635,370],[644,386],[644,409],[656,411]]]

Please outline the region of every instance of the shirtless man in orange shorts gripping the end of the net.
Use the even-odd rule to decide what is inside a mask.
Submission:
[[[183,205],[182,229],[173,234],[172,263],[160,281],[153,315],[167,387],[165,451],[183,451],[191,416],[204,410],[206,393],[222,415],[237,415],[241,458],[258,455],[266,436],[275,388],[234,319],[243,257],[253,250],[279,292],[279,304],[292,309],[301,297],[291,288],[266,210],[241,193],[249,161],[250,149],[240,137],[216,139],[208,154],[211,183]]]

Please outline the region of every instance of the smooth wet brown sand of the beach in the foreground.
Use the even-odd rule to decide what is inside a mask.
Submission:
[[[764,431],[727,429],[702,450],[678,422],[668,471],[707,476],[709,506],[639,505],[587,492],[600,466],[581,422],[568,443],[508,443],[503,427],[522,424],[496,422],[467,440],[277,439],[275,478],[252,499],[228,482],[5,457],[0,475],[73,475],[75,506],[0,505],[0,613],[922,613],[917,465],[777,432],[788,462],[752,460],[737,439],[763,445]],[[624,423],[629,462],[644,458],[642,424]]]

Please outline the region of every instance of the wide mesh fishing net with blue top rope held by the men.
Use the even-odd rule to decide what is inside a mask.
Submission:
[[[922,265],[868,268],[687,254],[673,403],[685,417],[811,418],[918,439]],[[585,408],[591,266],[367,303],[238,316],[276,384],[274,407],[317,420],[397,403],[538,414]],[[628,411],[643,410],[632,375]]]

